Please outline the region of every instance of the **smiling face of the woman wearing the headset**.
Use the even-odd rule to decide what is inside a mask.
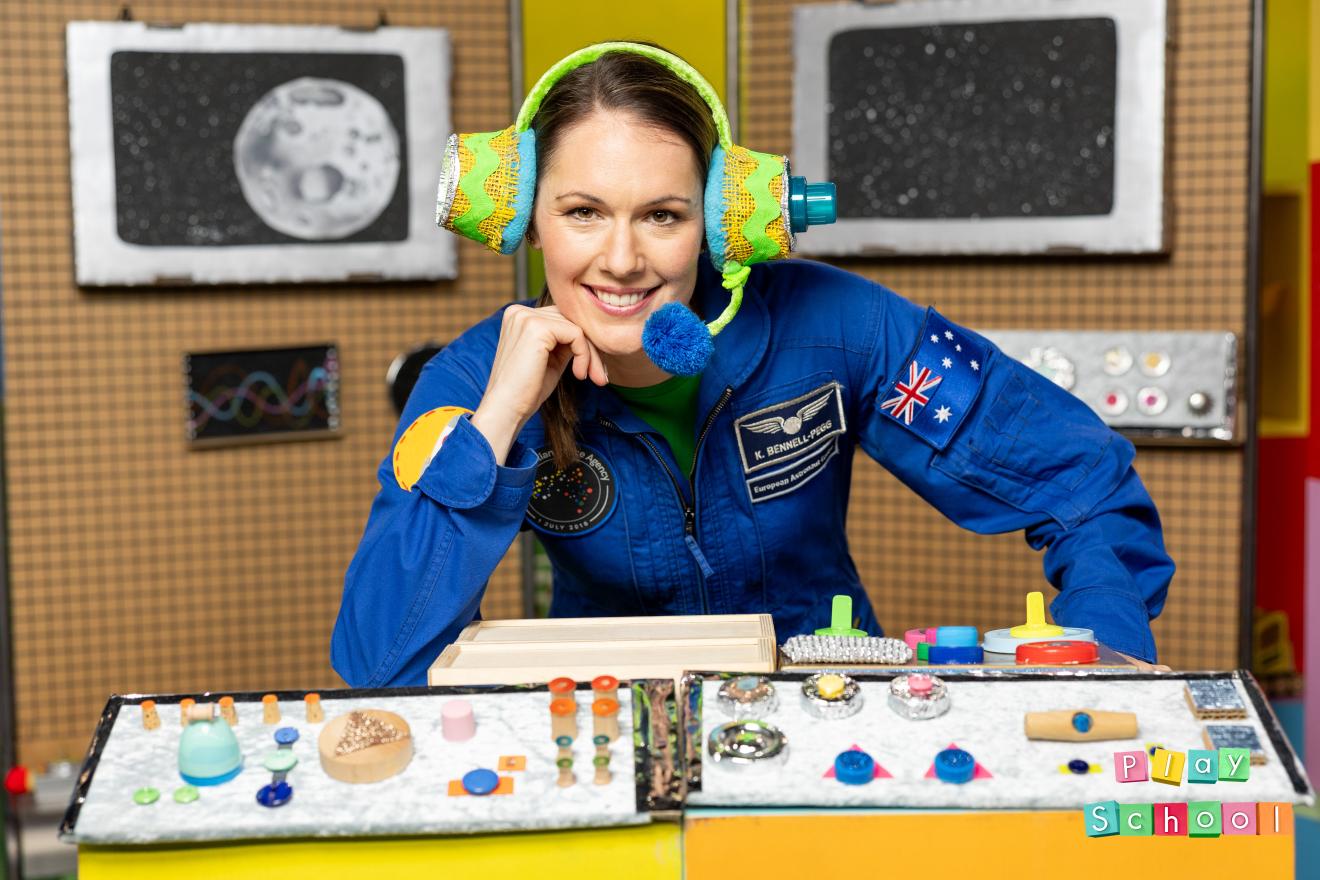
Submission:
[[[696,154],[673,132],[597,111],[562,133],[539,174],[528,237],[545,255],[554,305],[607,367],[644,360],[647,318],[667,302],[686,303],[697,282]]]

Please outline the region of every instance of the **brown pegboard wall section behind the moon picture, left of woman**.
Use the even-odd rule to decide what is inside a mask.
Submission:
[[[459,240],[455,281],[79,290],[65,24],[446,28],[453,124],[512,116],[508,4],[7,3],[0,29],[5,468],[18,759],[81,760],[112,693],[342,686],[330,629],[396,416],[391,360],[507,302],[513,263]],[[438,230],[436,235],[442,232]],[[181,359],[334,342],[342,437],[195,451]],[[487,616],[521,616],[517,545]]]

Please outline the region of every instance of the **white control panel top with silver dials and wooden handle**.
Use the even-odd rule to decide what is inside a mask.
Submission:
[[[1312,797],[1245,673],[821,670],[685,683],[689,706],[701,694],[692,805],[1068,809],[1199,801],[1216,797],[1213,782],[1222,800]],[[1130,785],[1137,767],[1160,784]]]

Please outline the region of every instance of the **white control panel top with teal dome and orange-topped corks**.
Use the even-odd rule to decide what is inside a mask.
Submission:
[[[115,697],[61,834],[150,843],[648,821],[632,695],[543,686]]]

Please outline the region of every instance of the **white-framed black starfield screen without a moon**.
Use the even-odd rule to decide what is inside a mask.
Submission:
[[[1166,251],[1164,0],[800,7],[793,173],[814,255]]]

